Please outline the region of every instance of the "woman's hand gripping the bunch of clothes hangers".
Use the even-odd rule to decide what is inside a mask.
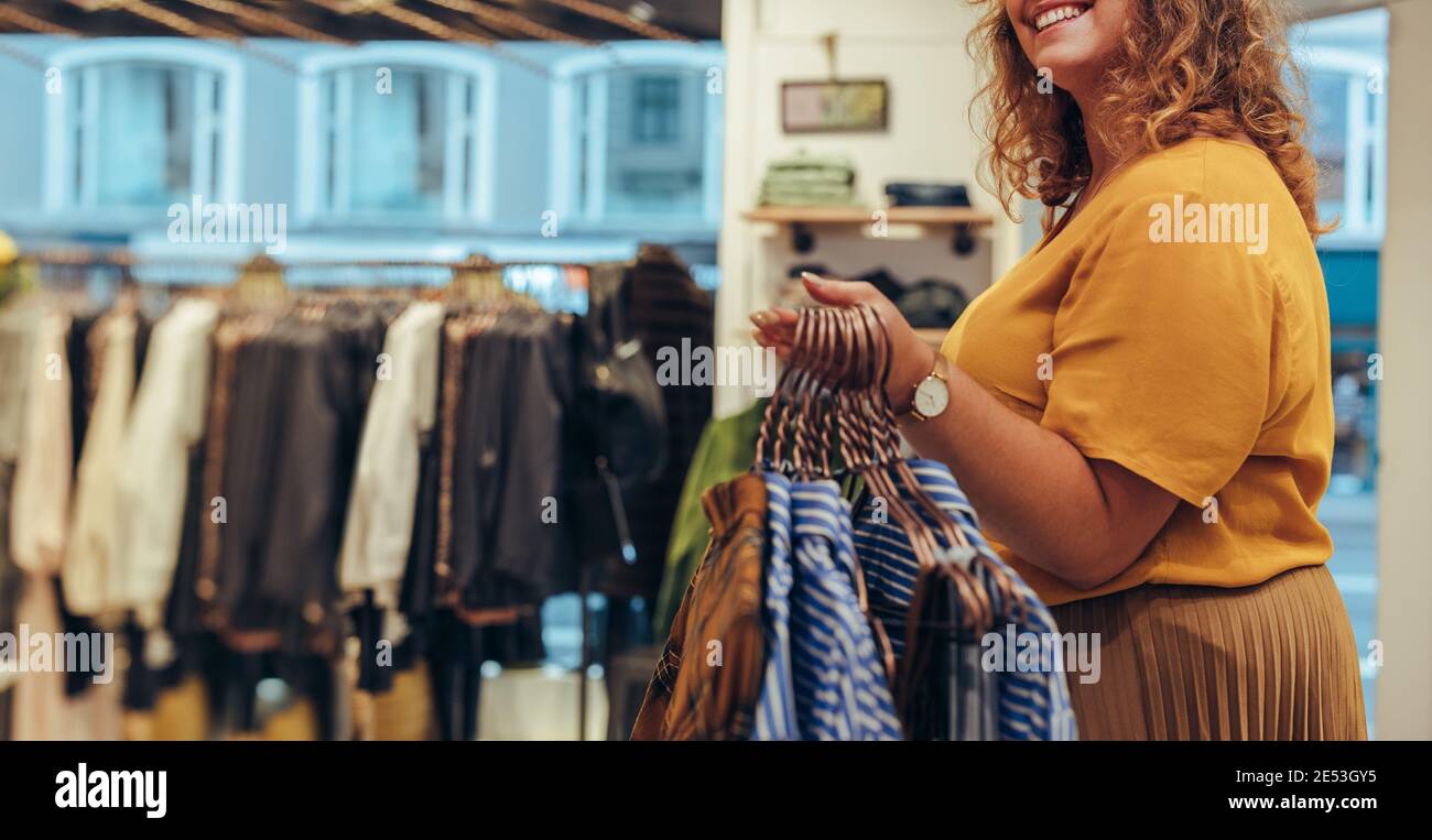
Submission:
[[[935,349],[915,333],[899,309],[875,286],[863,282],[826,280],[809,272],[800,275],[800,279],[818,303],[828,306],[868,303],[881,313],[889,331],[892,353],[885,395],[896,412],[906,411],[915,396],[915,386],[935,368]],[[760,346],[775,348],[776,356],[782,361],[789,359],[798,318],[793,309],[763,309],[750,316],[756,325],[752,335]]]

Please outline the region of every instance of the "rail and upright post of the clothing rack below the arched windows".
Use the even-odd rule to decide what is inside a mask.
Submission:
[[[653,253],[652,249],[660,249],[662,253],[672,253],[667,246],[663,245],[646,245],[639,248],[640,255]],[[276,282],[281,288],[286,288],[289,292],[301,293],[322,293],[322,295],[367,295],[367,293],[384,293],[394,290],[405,292],[420,292],[420,290],[441,290],[444,288],[455,289],[460,286],[464,276],[471,276],[474,273],[481,273],[491,276],[493,272],[501,272],[511,268],[558,268],[558,269],[590,269],[591,263],[573,263],[573,262],[551,262],[551,260],[520,260],[520,262],[494,262],[487,259],[481,253],[473,253],[463,260],[422,260],[422,259],[398,259],[398,260],[302,260],[289,265],[279,263],[266,253],[258,253],[245,260],[235,259],[153,259],[135,255],[129,249],[116,248],[109,250],[95,250],[89,248],[80,249],[46,249],[21,256],[21,262],[33,265],[39,269],[40,278],[39,285],[42,286],[70,286],[82,289],[83,286],[93,283],[96,280],[113,285],[120,289],[152,289],[160,288],[173,292],[195,292],[195,293],[213,293],[223,292],[239,286],[243,280],[252,278],[255,273],[265,275],[265,282]],[[412,272],[405,282],[387,282],[387,283],[357,283],[344,285],[334,282],[305,282],[299,285],[289,285],[289,279],[294,275],[305,275],[308,272],[315,272],[319,275],[328,275],[329,278],[335,273],[341,275],[344,272],[391,272],[391,270],[408,270]],[[172,272],[175,279],[172,280],[156,280],[155,273],[160,276],[166,272]],[[195,282],[195,272],[212,278],[209,282]],[[149,275],[149,279],[145,279]],[[188,278],[188,279],[179,279]],[[587,558],[579,554],[577,562],[577,595],[580,598],[580,664],[577,674],[577,740],[586,741],[587,736],[587,704],[589,704],[589,688],[590,678],[589,671],[593,661],[591,638],[589,633],[589,624],[591,621],[590,612],[590,595],[591,595],[591,570]],[[610,621],[610,612],[609,612]]]

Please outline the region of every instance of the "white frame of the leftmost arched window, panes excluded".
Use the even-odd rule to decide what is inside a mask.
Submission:
[[[79,73],[84,73],[86,113],[83,119],[97,120],[97,110],[95,110],[97,100],[93,90],[100,77],[100,66],[126,63],[180,67],[193,73],[209,73],[213,76],[222,87],[223,103],[218,112],[221,114],[221,124],[213,126],[208,122],[213,116],[212,113],[196,112],[195,114],[196,147],[193,160],[190,162],[190,193],[199,190],[199,195],[203,195],[206,202],[233,202],[238,195],[243,162],[243,149],[241,145],[241,130],[243,126],[242,59],[226,47],[199,41],[137,37],[119,41],[106,40],[76,44],[59,50],[49,57],[49,64],[59,69],[64,87],[62,94],[46,96],[43,189],[46,212],[64,213],[70,218],[95,218],[106,222],[132,222],[140,218],[150,218],[156,209],[165,210],[168,207],[168,205],[102,205],[95,199],[90,202],[76,200],[76,195],[80,192],[96,193],[97,183],[92,183],[89,189],[82,189],[84,185],[74,180],[76,156],[86,153],[84,149],[74,147],[72,132],[74,126],[69,119],[73,102],[70,93],[74,90],[74,77]],[[195,92],[198,96],[199,86],[195,86]],[[93,132],[97,126],[90,124],[87,127]],[[199,137],[212,140],[215,132],[219,139],[218,159],[213,159],[212,146],[205,150],[205,145],[198,142]],[[92,160],[90,166],[84,169],[87,177],[95,176],[96,163],[97,160]],[[205,195],[202,187],[198,186],[203,180],[212,180],[213,195]],[[189,196],[185,196],[185,202],[189,202]]]

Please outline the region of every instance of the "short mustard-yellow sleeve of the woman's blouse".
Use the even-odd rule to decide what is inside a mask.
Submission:
[[[1200,200],[1147,196],[1091,242],[1055,312],[1041,421],[1193,505],[1260,434],[1277,313],[1273,278],[1246,243],[1170,242],[1158,226]]]

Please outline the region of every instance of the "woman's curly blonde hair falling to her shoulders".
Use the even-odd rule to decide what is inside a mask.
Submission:
[[[1041,77],[1020,46],[1004,0],[987,6],[968,47],[988,70],[971,116],[984,106],[987,142],[981,183],[1017,219],[1015,196],[1040,199],[1045,230],[1090,179],[1084,120],[1074,99]],[[1246,133],[1262,149],[1302,210],[1315,238],[1317,165],[1302,143],[1305,120],[1292,107],[1282,0],[1131,0],[1130,20],[1110,63],[1101,109],[1121,114],[1100,129],[1116,160],[1191,137]],[[1045,87],[1048,89],[1048,87]],[[1302,97],[1300,97],[1302,99]]]

